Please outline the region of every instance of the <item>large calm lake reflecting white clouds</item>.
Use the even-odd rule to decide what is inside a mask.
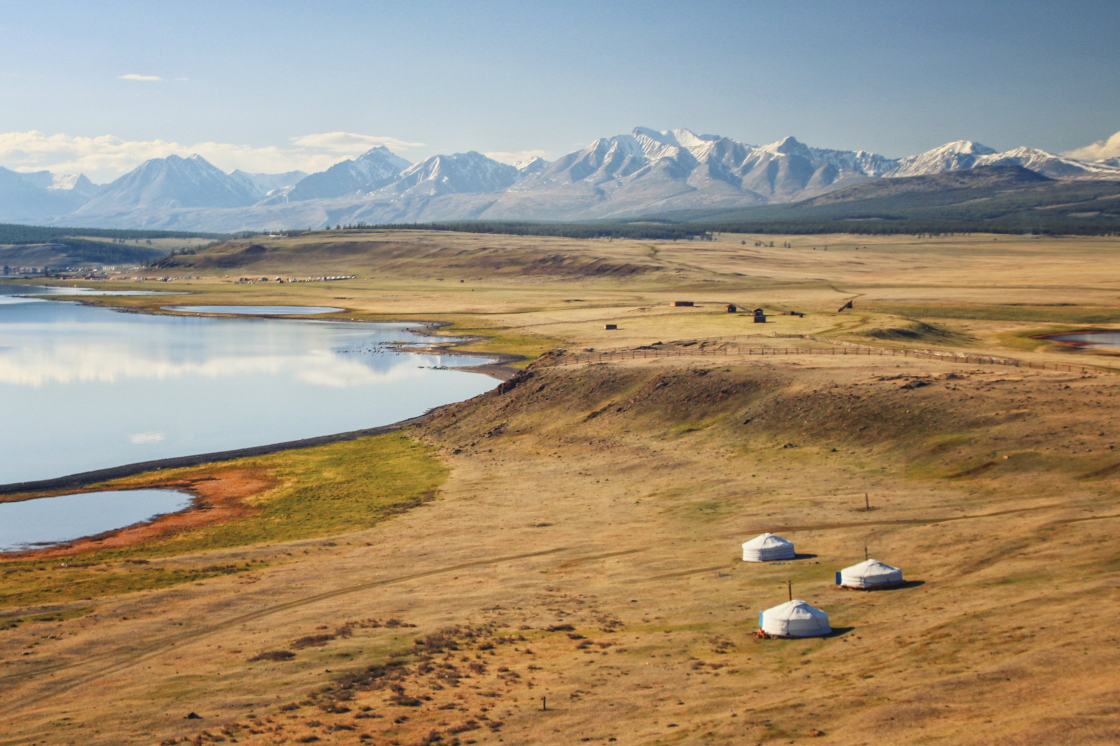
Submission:
[[[494,387],[405,324],[121,313],[0,284],[0,484],[375,427]],[[30,292],[37,292],[31,290]]]

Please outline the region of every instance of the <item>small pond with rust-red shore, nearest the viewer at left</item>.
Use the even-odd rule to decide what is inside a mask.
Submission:
[[[177,490],[85,492],[0,503],[0,551],[95,536],[122,526],[174,513],[190,506],[192,497]]]

